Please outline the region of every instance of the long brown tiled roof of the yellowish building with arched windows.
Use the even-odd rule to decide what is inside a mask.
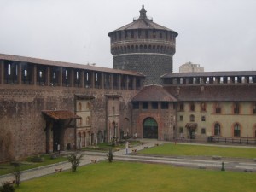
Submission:
[[[177,95],[177,87],[179,94]],[[177,97],[178,101],[219,101],[253,102],[256,101],[256,84],[205,84],[168,86],[164,89]]]

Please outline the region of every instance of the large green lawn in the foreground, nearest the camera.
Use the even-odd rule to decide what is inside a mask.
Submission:
[[[18,192],[254,192],[255,173],[221,172],[158,164],[103,161],[22,182]]]

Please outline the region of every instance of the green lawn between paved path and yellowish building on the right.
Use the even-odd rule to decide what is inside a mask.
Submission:
[[[256,158],[256,148],[235,148],[189,144],[162,144],[154,148],[138,151],[139,154],[177,155],[177,156],[222,156],[237,158]]]

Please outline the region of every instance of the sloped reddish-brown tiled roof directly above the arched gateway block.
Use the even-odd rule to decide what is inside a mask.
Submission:
[[[148,85],[143,87],[132,101],[136,102],[177,102],[177,99],[163,89],[160,85]]]

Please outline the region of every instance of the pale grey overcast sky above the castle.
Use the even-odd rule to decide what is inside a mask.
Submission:
[[[132,22],[142,0],[0,0],[0,53],[113,67],[108,32]],[[256,0],[144,0],[178,33],[174,72],[256,70]]]

